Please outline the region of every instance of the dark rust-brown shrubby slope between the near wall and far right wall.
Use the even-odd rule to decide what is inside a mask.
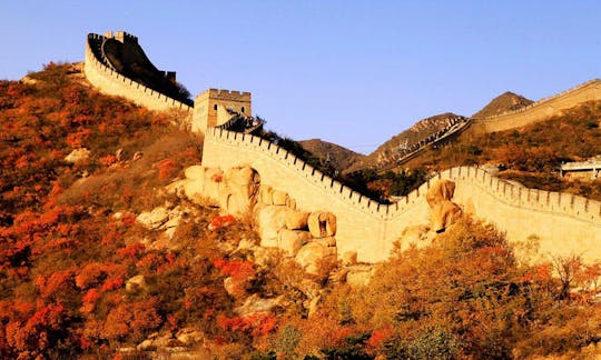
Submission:
[[[456,166],[493,163],[508,169],[500,177],[529,188],[565,191],[601,200],[601,180],[561,178],[562,162],[581,161],[601,154],[601,101],[587,102],[548,121],[522,129],[482,136],[465,133],[457,141],[427,149],[410,161],[408,168],[443,170]]]

